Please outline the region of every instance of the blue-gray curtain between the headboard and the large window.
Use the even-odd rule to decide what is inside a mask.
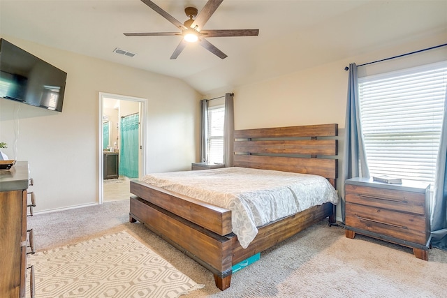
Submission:
[[[357,65],[349,64],[348,97],[346,100],[346,120],[344,122],[344,154],[341,195],[342,217],[344,223],[344,181],[353,177],[369,177],[369,169],[363,141],[360,121],[360,103],[358,99]]]

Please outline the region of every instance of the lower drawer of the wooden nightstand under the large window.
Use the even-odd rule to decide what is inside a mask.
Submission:
[[[425,245],[425,216],[346,203],[346,225]]]

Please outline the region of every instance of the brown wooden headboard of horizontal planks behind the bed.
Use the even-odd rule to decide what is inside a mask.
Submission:
[[[236,130],[233,165],[317,174],[335,187],[337,135],[338,124]]]

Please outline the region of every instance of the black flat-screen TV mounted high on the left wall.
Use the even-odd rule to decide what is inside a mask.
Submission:
[[[67,74],[0,38],[0,97],[62,112]]]

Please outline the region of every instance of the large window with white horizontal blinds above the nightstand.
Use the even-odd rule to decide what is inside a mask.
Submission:
[[[369,174],[434,184],[447,64],[358,80]]]

